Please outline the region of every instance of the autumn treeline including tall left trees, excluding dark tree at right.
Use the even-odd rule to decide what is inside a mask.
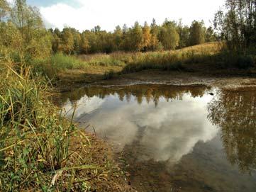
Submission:
[[[0,4],[0,45],[17,50],[19,55],[45,57],[50,53],[64,52],[68,55],[98,52],[146,52],[174,50],[215,41],[213,28],[206,28],[203,21],[194,21],[184,26],[181,21],[166,21],[157,25],[155,19],[148,25],[123,28],[113,32],[96,26],[80,33],[74,28],[46,30],[37,8],[28,6],[26,0],[16,0],[10,6],[6,0]],[[26,54],[29,53],[29,54]],[[24,56],[25,57],[25,56]]]

